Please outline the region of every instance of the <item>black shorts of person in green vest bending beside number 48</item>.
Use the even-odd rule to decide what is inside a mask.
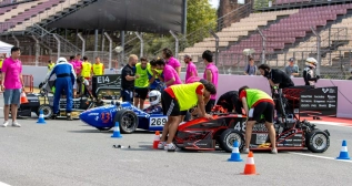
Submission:
[[[265,122],[273,123],[274,105],[269,102],[261,102],[249,111],[249,121],[261,121],[261,115],[264,115]]]

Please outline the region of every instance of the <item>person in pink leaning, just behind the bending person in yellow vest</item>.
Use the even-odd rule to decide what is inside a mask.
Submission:
[[[163,82],[165,83],[167,87],[174,84],[182,84],[177,71],[171,65],[165,64],[163,60],[157,60],[157,69],[162,70]]]

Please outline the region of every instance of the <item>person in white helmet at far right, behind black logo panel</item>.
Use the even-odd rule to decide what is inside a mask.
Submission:
[[[318,61],[314,58],[308,58],[305,60],[305,68],[303,70],[303,79],[305,85],[314,86],[316,81],[320,79],[319,75],[314,74]]]

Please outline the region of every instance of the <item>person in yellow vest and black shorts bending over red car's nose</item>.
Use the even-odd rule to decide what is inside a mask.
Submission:
[[[204,100],[215,93],[215,86],[208,81],[194,82],[191,84],[178,84],[167,87],[161,94],[161,103],[163,114],[168,116],[168,122],[163,127],[162,137],[158,144],[158,148],[175,151],[175,145],[172,143],[173,137],[182,117],[191,107],[198,105],[201,111],[200,116],[211,120],[212,116],[205,113]]]

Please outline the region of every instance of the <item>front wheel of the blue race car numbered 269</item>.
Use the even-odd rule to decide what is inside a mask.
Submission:
[[[138,126],[138,116],[133,111],[120,110],[114,117],[114,122],[119,122],[122,134],[131,134]]]

